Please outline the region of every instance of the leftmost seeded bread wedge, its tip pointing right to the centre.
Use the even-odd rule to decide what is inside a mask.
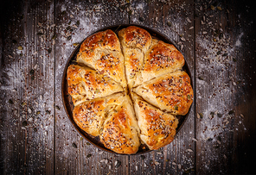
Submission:
[[[71,65],[67,68],[68,93],[74,106],[96,97],[106,97],[123,88],[112,79],[84,66]]]

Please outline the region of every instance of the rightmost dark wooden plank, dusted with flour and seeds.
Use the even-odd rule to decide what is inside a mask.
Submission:
[[[255,12],[244,3],[195,3],[199,174],[253,173],[255,166]]]

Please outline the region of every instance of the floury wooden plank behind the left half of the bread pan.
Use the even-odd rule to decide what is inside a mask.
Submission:
[[[106,153],[93,145],[87,145],[87,141],[80,140],[81,136],[69,121],[61,100],[62,72],[69,55],[75,48],[73,44],[83,41],[86,36],[101,28],[128,23],[127,13],[123,13],[118,8],[119,6],[118,1],[110,3],[56,1],[55,101],[56,105],[61,107],[60,110],[56,110],[55,116],[55,172],[57,174],[123,174],[128,172],[128,156]],[[74,31],[70,32],[67,28]],[[70,40],[67,40],[67,34],[71,34]],[[73,143],[77,148],[72,147]],[[121,166],[115,168],[117,160],[121,162]]]

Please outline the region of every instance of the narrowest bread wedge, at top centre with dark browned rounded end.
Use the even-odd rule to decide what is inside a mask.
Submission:
[[[149,49],[151,36],[143,28],[130,26],[118,32],[125,56],[125,72],[128,86],[135,84],[144,63],[144,53]]]

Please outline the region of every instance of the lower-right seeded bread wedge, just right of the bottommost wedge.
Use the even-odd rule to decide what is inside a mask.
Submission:
[[[141,131],[140,139],[150,149],[155,150],[170,144],[176,135],[178,119],[151,106],[137,95],[132,94],[132,96]]]

